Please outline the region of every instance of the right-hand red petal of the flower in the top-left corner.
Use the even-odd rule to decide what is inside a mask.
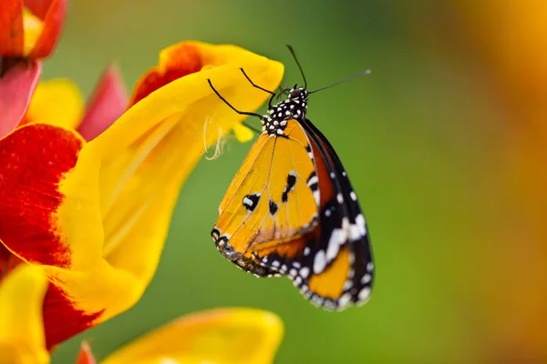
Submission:
[[[67,13],[67,0],[51,1],[46,14],[44,14],[45,5],[43,4],[47,2],[38,2],[34,0],[28,1],[27,3],[33,14],[44,20],[42,34],[38,38],[35,47],[30,51],[28,58],[44,58],[51,54],[61,35],[63,23],[65,22],[65,14]],[[38,6],[38,3],[42,3],[42,5]],[[34,12],[31,5],[34,6],[38,13]]]

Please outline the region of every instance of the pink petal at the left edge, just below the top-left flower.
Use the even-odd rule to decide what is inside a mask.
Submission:
[[[0,78],[0,137],[15,129],[25,116],[41,69],[37,61],[28,66],[18,64]]]

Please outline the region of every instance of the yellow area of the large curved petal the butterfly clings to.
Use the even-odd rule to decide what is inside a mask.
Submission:
[[[274,89],[281,81],[283,66],[263,56],[232,45],[189,44],[201,55],[204,70],[131,106],[82,148],[77,166],[60,185],[67,200],[58,221],[73,260],[71,271],[52,273],[67,282],[71,296],[86,297],[82,309],[104,309],[100,320],[131,307],[148,286],[181,185],[203,154],[203,143],[211,146],[243,121],[214,95],[207,79],[249,111],[268,94],[253,88],[240,67],[263,87]],[[204,135],[206,122],[212,131]]]

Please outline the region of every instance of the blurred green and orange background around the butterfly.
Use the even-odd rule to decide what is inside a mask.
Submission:
[[[525,74],[533,52],[547,45],[511,48],[527,41],[515,39],[518,26],[538,18],[527,19],[526,6],[504,12],[502,4],[509,3],[72,1],[44,78],[72,78],[86,95],[111,61],[131,89],[160,49],[181,40],[241,45],[280,60],[289,84],[301,82],[284,47],[292,44],[311,88],[370,68],[369,76],[315,95],[308,116],[335,146],[360,197],[377,280],[366,306],[328,313],[288,279],[253,278],[222,258],[209,234],[251,147],[233,140],[222,157],[203,158],[182,188],[144,297],[61,345],[54,362],[72,362],[82,339],[93,339],[102,359],[171,319],[226,306],[281,316],[277,363],[547,360],[547,252],[540,225],[531,222],[544,193],[524,187],[538,169],[520,163],[544,151],[533,149],[540,139],[530,155],[521,146],[545,128],[535,122],[541,114],[519,114],[529,107],[513,97],[519,89],[511,80],[521,78],[504,77],[513,64],[502,62],[505,50],[532,52],[515,63]],[[519,25],[511,16],[524,18]],[[505,36],[507,28],[517,33]],[[545,80],[534,72],[533,86]],[[521,193],[531,194],[530,204],[521,204]]]

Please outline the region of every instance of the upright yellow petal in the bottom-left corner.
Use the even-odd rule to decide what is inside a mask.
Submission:
[[[0,363],[49,362],[42,321],[47,278],[20,265],[0,283]]]

